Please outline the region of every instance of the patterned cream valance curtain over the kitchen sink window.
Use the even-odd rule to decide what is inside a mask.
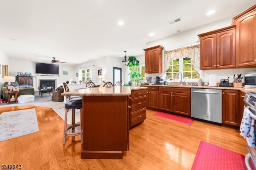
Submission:
[[[164,73],[168,70],[172,60],[190,57],[192,66],[196,71],[200,71],[200,44],[173,49],[164,52]]]

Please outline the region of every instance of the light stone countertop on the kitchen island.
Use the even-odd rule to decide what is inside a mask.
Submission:
[[[130,86],[116,86],[116,87],[94,87],[94,88],[80,88],[70,92],[64,92],[62,96],[129,96],[131,90],[141,90],[146,87],[130,87]]]

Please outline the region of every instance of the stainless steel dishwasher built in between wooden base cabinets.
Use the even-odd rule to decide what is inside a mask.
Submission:
[[[222,123],[222,90],[191,88],[191,117]]]

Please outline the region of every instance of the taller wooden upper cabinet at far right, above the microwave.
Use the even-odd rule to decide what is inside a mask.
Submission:
[[[256,5],[235,16],[236,67],[256,66]]]

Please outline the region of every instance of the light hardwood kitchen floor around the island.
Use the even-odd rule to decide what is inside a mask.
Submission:
[[[0,113],[33,107],[39,132],[0,142],[1,164],[22,164],[24,170],[189,170],[200,141],[246,154],[246,141],[236,129],[202,121],[183,125],[147,110],[144,123],[130,130],[130,149],[122,160],[81,159],[80,137],[67,137],[63,145],[64,121],[52,109],[12,106],[0,107]]]

